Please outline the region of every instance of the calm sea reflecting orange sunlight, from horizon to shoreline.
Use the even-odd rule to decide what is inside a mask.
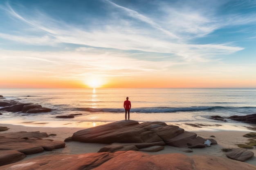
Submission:
[[[126,97],[136,121],[216,121],[210,116],[256,113],[256,88],[2,88],[6,100],[40,104],[50,113],[3,112],[0,120],[58,121],[57,115],[82,114],[68,121],[119,121],[124,119]],[[67,120],[67,119],[65,119]]]

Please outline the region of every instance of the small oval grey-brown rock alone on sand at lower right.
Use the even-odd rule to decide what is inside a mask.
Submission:
[[[254,156],[254,152],[244,148],[232,148],[231,151],[226,153],[226,156],[238,161],[245,161]]]

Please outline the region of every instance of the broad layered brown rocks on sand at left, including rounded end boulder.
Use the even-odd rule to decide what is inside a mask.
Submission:
[[[36,154],[44,150],[64,148],[65,142],[42,139],[48,137],[44,132],[10,132],[0,134],[0,163],[2,165],[23,159],[24,155]],[[9,151],[9,152],[7,152]],[[9,158],[8,161],[5,159]]]

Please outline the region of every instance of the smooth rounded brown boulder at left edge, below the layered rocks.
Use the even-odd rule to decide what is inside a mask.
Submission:
[[[16,150],[0,150],[0,166],[18,162],[24,159],[26,155]]]

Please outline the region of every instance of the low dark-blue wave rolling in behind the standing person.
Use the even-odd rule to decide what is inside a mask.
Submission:
[[[196,111],[223,111],[223,110],[256,110],[256,107],[222,107],[222,106],[193,106],[193,107],[144,107],[132,108],[130,111],[134,113],[175,113],[175,112],[196,112]],[[124,108],[73,108],[72,110],[87,111],[90,113],[111,112],[122,113]]]

